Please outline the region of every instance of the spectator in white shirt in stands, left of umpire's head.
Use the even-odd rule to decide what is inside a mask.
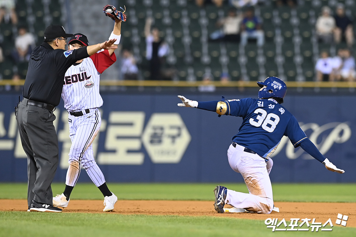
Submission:
[[[15,63],[30,59],[30,54],[35,48],[35,37],[28,33],[24,26],[19,27],[19,35],[15,39],[15,48],[12,52]]]

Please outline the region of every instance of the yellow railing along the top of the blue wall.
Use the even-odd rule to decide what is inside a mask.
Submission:
[[[18,86],[23,85],[25,80],[12,81],[12,80],[0,80],[0,86],[11,85]],[[323,87],[323,88],[356,88],[356,82],[314,82],[314,81],[287,81],[287,87]],[[220,81],[213,81],[206,84],[202,81],[113,81],[113,80],[102,80],[100,81],[101,86],[162,86],[162,87],[196,87],[196,86],[207,86],[214,85],[216,87],[257,87],[255,81],[229,81],[221,83]]]

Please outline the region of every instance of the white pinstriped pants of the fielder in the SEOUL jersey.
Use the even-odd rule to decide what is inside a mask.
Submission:
[[[79,117],[69,114],[68,118],[69,137],[72,140],[68,162],[78,161],[85,171],[87,171],[93,183],[99,187],[105,183],[105,178],[94,160],[92,142],[100,129],[100,112],[98,109],[94,109],[90,113]],[[74,187],[79,178],[80,166],[79,172],[75,172],[75,174],[70,174],[69,172],[73,172],[73,169],[71,170],[70,167],[67,172],[66,184]]]

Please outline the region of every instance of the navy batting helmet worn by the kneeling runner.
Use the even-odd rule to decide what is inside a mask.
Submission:
[[[283,99],[287,93],[287,86],[284,81],[275,76],[267,77],[265,81],[258,81],[257,84],[261,88],[266,86],[262,90],[258,91],[258,98],[260,99],[271,97],[278,97]]]

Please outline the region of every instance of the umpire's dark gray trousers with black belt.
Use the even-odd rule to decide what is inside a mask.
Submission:
[[[27,101],[26,101],[27,102]],[[22,101],[15,109],[23,150],[27,155],[27,203],[53,205],[51,183],[58,166],[58,138],[52,111]]]

